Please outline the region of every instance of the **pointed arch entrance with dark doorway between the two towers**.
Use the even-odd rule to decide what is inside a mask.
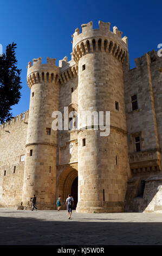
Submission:
[[[61,201],[62,201],[62,207],[61,209],[66,209],[66,199],[68,197],[68,194],[72,194],[74,198],[74,208],[76,209],[77,205],[77,190],[78,190],[78,184],[77,184],[77,177],[78,172],[73,167],[66,167],[62,170],[59,178],[57,179],[57,195],[61,195]]]

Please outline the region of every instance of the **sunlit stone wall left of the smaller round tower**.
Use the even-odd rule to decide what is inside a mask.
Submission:
[[[1,206],[15,206],[22,201],[27,127],[28,111],[0,127]]]

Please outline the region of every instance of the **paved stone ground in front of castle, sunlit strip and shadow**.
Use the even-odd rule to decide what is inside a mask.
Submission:
[[[0,208],[0,245],[162,245],[162,214]]]

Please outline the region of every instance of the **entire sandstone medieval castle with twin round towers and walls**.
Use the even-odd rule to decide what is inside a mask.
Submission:
[[[156,51],[129,69],[127,37],[99,21],[75,29],[72,60],[28,63],[29,111],[0,127],[0,206],[77,212],[162,212],[162,57]],[[110,133],[53,130],[54,111],[110,111]]]

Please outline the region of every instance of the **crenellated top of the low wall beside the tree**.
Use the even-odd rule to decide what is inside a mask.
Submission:
[[[6,123],[3,123],[0,125],[0,130],[5,130],[5,132],[9,132],[9,129],[12,125],[15,125],[15,123],[20,123],[23,121],[24,124],[28,124],[28,117],[29,117],[29,110],[16,115],[16,117],[12,118]],[[10,133],[10,132],[9,132]]]

